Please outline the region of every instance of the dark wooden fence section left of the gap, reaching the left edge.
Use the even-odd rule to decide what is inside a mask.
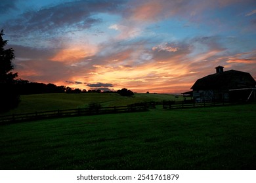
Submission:
[[[47,118],[62,118],[70,116],[89,116],[97,114],[113,114],[119,112],[140,112],[148,109],[145,103],[137,105],[95,107],[95,108],[74,108],[68,110],[50,110],[44,112],[31,112],[26,114],[12,114],[0,116],[0,124],[10,124],[22,121],[42,120]]]

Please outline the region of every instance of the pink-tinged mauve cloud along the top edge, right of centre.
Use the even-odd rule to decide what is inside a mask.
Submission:
[[[202,22],[202,20],[209,21],[209,17],[205,13],[208,10],[221,9],[228,5],[244,5],[245,3],[254,2],[253,0],[246,2],[243,0],[133,0],[128,3],[128,7],[131,8],[123,10],[122,14],[128,20],[138,22],[159,22],[167,18],[185,18],[190,22]]]

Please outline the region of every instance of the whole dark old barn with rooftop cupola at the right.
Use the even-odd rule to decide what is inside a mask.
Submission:
[[[256,81],[242,71],[224,71],[215,67],[216,73],[196,80],[192,86],[195,101],[255,101]]]

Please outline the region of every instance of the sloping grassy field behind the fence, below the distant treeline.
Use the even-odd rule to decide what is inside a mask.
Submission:
[[[89,103],[100,103],[102,107],[114,107],[147,101],[181,101],[183,99],[182,96],[175,98],[174,95],[153,93],[135,93],[131,97],[122,97],[117,93],[47,93],[20,97],[21,102],[17,108],[1,115],[83,108]]]

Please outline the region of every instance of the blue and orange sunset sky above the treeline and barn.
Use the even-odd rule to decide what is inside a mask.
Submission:
[[[256,79],[255,0],[1,0],[19,78],[181,93],[221,65]]]

